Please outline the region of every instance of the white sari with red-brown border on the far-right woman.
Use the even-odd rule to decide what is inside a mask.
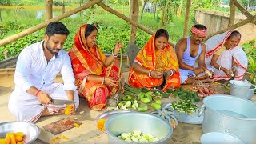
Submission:
[[[210,65],[211,59],[214,55],[214,52],[220,50],[222,46],[224,46],[227,38],[232,33],[232,30],[226,31],[222,34],[214,35],[213,37],[209,38],[206,41],[206,66],[210,70],[214,71],[213,78],[215,80],[219,79],[229,79],[230,77],[226,76],[226,74],[222,70],[215,69],[213,66]],[[239,44],[239,43],[238,43]],[[222,51],[222,54],[218,57],[217,63],[220,66],[225,67],[226,69],[232,71],[232,59],[234,58],[234,62],[237,63],[238,67],[238,76],[235,79],[241,80],[243,75],[246,72],[248,60],[246,57],[246,53],[242,50],[240,46],[234,46],[229,50]]]

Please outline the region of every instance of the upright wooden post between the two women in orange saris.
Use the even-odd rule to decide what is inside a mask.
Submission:
[[[138,22],[138,11],[139,11],[139,1],[130,0],[130,18],[134,22]],[[135,43],[137,27],[130,25],[130,42]]]

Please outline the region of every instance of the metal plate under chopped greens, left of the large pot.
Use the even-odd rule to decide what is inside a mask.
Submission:
[[[171,102],[167,103],[165,108],[170,108]],[[202,124],[204,114],[202,114],[200,117],[198,117],[198,110],[201,109],[202,106],[197,105],[197,110],[194,112],[194,114],[186,114],[181,113],[179,114],[177,110],[174,110],[174,116],[178,119],[178,122],[184,122],[189,124]]]

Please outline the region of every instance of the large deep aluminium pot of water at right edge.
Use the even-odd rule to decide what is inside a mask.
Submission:
[[[256,103],[246,98],[214,94],[203,99],[203,133],[234,134],[244,142],[256,141]]]

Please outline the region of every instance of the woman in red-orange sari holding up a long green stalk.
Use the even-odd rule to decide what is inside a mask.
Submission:
[[[106,58],[96,44],[97,34],[95,26],[82,25],[69,52],[79,95],[86,98],[92,110],[104,109],[106,98],[119,88],[119,62],[116,57],[122,49],[122,42],[117,42],[112,54]]]

